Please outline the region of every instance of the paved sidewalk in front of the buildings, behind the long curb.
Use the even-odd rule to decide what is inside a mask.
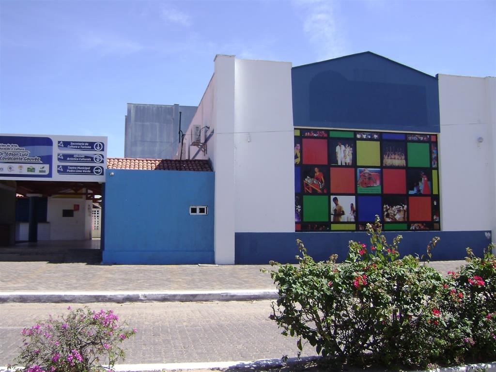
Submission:
[[[443,274],[464,261],[433,261]],[[88,265],[0,262],[0,291],[186,291],[271,289],[269,265]]]

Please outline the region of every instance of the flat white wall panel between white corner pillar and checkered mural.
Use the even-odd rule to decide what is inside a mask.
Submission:
[[[236,232],[294,232],[291,63],[235,61]]]

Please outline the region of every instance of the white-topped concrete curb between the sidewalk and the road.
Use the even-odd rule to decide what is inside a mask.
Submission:
[[[275,300],[275,289],[155,292],[3,292],[0,303],[198,302]]]

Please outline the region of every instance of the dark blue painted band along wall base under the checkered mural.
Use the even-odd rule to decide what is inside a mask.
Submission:
[[[384,235],[388,242],[399,234],[403,239],[399,245],[400,254],[426,253],[427,244],[434,237],[441,240],[433,250],[432,259],[459,260],[466,256],[466,248],[470,247],[478,256],[482,256],[484,248],[491,243],[486,238],[486,231],[415,231],[389,232]],[[365,232],[332,232],[332,233],[236,233],[235,262],[237,264],[267,264],[270,260],[281,263],[297,262],[295,256],[300,254],[296,239],[301,239],[307,252],[316,261],[323,261],[331,254],[338,254],[338,262],[348,254],[348,242],[354,240],[370,245]]]

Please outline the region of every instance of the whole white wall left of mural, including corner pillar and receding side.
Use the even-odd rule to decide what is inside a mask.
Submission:
[[[215,262],[233,264],[236,232],[295,228],[291,63],[218,55],[214,64],[186,146],[194,125],[209,126],[202,139],[213,131],[196,159],[215,172]]]

